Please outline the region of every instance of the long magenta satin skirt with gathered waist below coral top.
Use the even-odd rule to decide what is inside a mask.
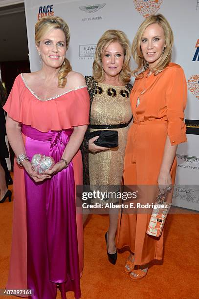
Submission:
[[[55,163],[63,154],[73,129],[38,131],[22,125],[25,150],[52,156]],[[73,165],[41,183],[25,172],[27,210],[27,286],[32,299],[55,299],[57,286],[66,299],[67,291],[81,298],[75,187]]]

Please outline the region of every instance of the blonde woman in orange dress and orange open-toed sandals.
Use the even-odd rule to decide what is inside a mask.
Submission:
[[[158,14],[140,25],[132,46],[138,67],[133,72],[133,125],[125,152],[124,184],[147,185],[150,203],[156,200],[154,186],[164,193],[174,184],[177,145],[187,141],[186,80],[182,68],[171,63],[172,45],[172,29]],[[172,192],[170,200],[171,196]],[[144,277],[148,263],[163,256],[163,234],[159,238],[146,234],[150,217],[151,212],[123,213],[119,218],[117,247],[131,250],[124,270],[133,280]]]

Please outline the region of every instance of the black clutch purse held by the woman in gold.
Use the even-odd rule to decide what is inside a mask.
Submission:
[[[89,139],[95,136],[99,136],[99,138],[94,141],[94,144],[98,145],[99,147],[105,147],[105,148],[118,147],[118,131],[98,130],[98,131],[90,132]]]

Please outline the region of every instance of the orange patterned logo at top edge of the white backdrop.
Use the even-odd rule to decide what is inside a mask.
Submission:
[[[154,15],[160,8],[162,1],[163,0],[133,0],[136,10],[144,18]]]

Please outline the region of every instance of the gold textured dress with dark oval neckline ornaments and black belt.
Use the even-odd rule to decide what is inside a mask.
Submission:
[[[118,125],[128,123],[132,118],[130,91],[125,86],[111,86],[104,83],[99,83],[98,88],[101,88],[103,92],[94,96],[91,105],[90,124]],[[116,91],[116,95],[112,90]],[[110,96],[110,94],[115,96]],[[118,131],[118,147],[95,154],[89,152],[90,186],[121,184],[128,128],[111,129]],[[95,130],[99,129],[91,128],[90,132]]]

